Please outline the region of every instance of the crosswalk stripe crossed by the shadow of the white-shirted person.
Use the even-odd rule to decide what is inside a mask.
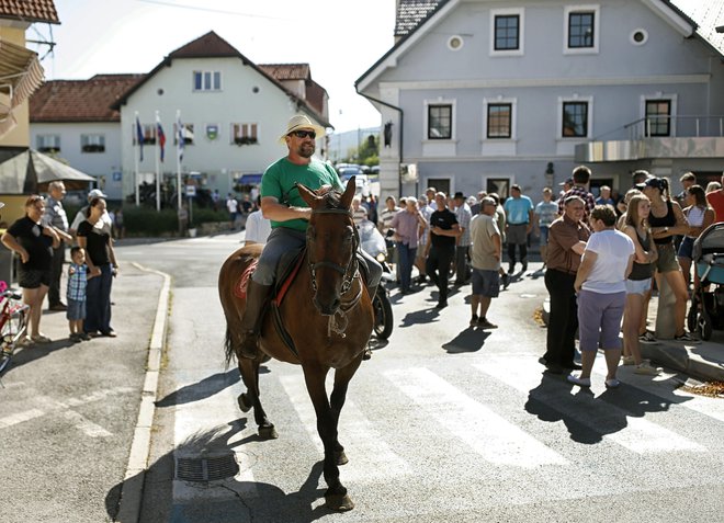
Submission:
[[[598,362],[599,364],[601,362]],[[478,371],[498,379],[506,385],[524,394],[541,384],[542,367],[533,360],[520,359],[511,361],[509,357],[491,356],[485,363],[473,365]],[[516,373],[510,372],[516,368]],[[538,369],[538,372],[536,372]],[[543,378],[548,379],[548,378]],[[552,378],[551,378],[552,379]],[[554,383],[553,380],[551,382]],[[570,395],[567,385],[562,384],[561,398],[564,394]],[[577,391],[575,387],[574,391]],[[546,402],[552,408],[555,403],[551,401],[550,394],[542,393],[538,399]],[[590,397],[576,397],[581,403],[586,401],[586,413],[581,410],[566,409],[566,417],[573,419],[582,425],[601,433],[603,437],[632,451],[636,454],[653,454],[674,451],[703,452],[705,448],[686,437],[682,437],[670,430],[653,423],[643,418],[633,417],[630,412],[615,407],[607,401],[599,401]],[[596,412],[596,414],[592,413]],[[625,427],[621,427],[622,420],[625,420]]]

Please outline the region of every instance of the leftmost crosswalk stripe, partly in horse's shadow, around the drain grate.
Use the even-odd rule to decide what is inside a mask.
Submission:
[[[185,384],[185,385],[193,385]],[[214,387],[214,384],[207,384]],[[184,384],[179,384],[179,389]],[[218,446],[225,450],[231,450],[236,462],[239,465],[239,471],[234,478],[225,480],[228,489],[245,498],[257,498],[258,491],[253,470],[251,469],[251,459],[248,454],[241,452],[241,447],[236,445],[248,434],[241,431],[233,433],[234,429],[228,425],[219,425],[219,420],[236,420],[239,417],[237,403],[238,387],[225,387],[216,394],[205,395],[203,390],[194,390],[194,394],[204,396],[204,399],[195,401],[184,401],[185,398],[179,398],[179,405],[176,406],[174,416],[174,448],[176,453],[190,453],[202,457],[200,450],[194,447],[194,442],[204,437],[218,437]],[[200,433],[200,428],[212,428]],[[229,435],[226,435],[229,434]],[[193,484],[190,481],[173,480],[173,499],[178,501],[192,500],[197,497],[217,496],[224,498],[228,496],[228,490],[208,489],[203,484]]]

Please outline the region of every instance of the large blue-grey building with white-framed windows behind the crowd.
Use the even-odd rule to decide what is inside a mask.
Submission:
[[[389,138],[382,197],[539,197],[578,163],[621,191],[636,169],[719,179],[723,21],[721,0],[398,0],[396,44],[355,82]]]

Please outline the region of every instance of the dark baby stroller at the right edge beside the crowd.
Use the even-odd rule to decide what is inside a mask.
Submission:
[[[724,223],[712,224],[697,238],[692,260],[700,282],[687,323],[690,332],[709,340],[713,329],[724,328]]]

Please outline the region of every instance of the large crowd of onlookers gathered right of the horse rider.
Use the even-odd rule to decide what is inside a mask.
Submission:
[[[666,284],[674,296],[674,340],[700,342],[685,328],[692,285],[699,284],[692,247],[711,224],[724,221],[721,184],[704,190],[688,172],[680,179],[683,191],[671,196],[667,179],[636,171],[625,195],[604,185],[596,197],[591,175],[585,166],[575,168],[557,195],[545,187],[536,204],[516,184],[502,205],[495,193],[449,197],[434,187],[417,198],[403,197],[399,205],[388,196],[377,226],[394,246],[400,293],[409,294],[429,280],[438,289],[437,307],[446,307],[454,274],[452,285],[472,283],[471,327],[494,329],[488,318],[491,299],[514,275],[528,271],[528,248],[538,236],[551,305],[541,359],[546,369],[580,371],[568,380],[589,386],[600,348],[607,387],[619,385],[619,362],[635,365],[636,374],[659,374],[640,350],[640,343],[658,343],[647,329],[648,302]],[[362,206],[362,201],[355,203],[355,219],[366,219],[366,211],[357,211]],[[504,248],[507,271],[501,268]],[[416,280],[412,268],[418,270]],[[580,364],[575,361],[577,333]]]

